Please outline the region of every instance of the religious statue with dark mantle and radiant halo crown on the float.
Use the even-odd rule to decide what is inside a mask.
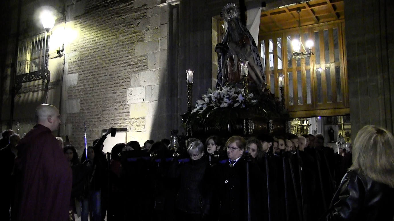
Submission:
[[[242,82],[241,66],[248,62],[248,81],[252,87],[264,88],[265,76],[255,41],[249,30],[242,24],[239,11],[235,4],[227,4],[222,11],[225,26],[227,25],[221,43],[216,45],[215,51],[219,53],[216,88],[228,82]],[[243,71],[244,72],[244,71]]]

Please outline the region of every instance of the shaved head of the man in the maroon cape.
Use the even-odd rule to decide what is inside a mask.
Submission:
[[[51,131],[58,130],[60,124],[60,115],[58,108],[50,104],[40,104],[35,109],[35,118],[37,124],[46,126]]]

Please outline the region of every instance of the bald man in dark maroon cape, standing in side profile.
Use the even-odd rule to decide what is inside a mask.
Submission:
[[[67,220],[71,198],[71,168],[52,135],[58,130],[56,107],[40,104],[37,125],[19,142],[14,174],[16,192],[12,220]]]

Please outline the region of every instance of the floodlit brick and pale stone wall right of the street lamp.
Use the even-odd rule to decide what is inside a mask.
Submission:
[[[127,140],[141,145],[165,135],[151,136],[167,58],[166,5],[157,3],[86,1],[84,13],[72,19],[80,37],[66,59],[61,130],[72,143],[82,146],[84,121],[88,143],[111,126],[127,128]],[[143,102],[127,104],[127,89],[138,87],[145,90]]]

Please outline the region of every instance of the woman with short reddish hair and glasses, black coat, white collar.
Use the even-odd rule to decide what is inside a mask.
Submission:
[[[246,163],[249,161],[250,190],[251,190],[251,217],[260,220],[261,172],[256,163],[251,161],[250,155],[245,153],[246,141],[243,137],[232,136],[227,140],[225,148],[229,159],[217,164],[213,169],[216,172],[217,191],[214,192],[215,202],[213,208],[219,207],[217,218],[219,221],[247,220],[247,189],[246,189]],[[214,205],[216,204],[216,205]],[[217,220],[217,219],[216,219]]]

